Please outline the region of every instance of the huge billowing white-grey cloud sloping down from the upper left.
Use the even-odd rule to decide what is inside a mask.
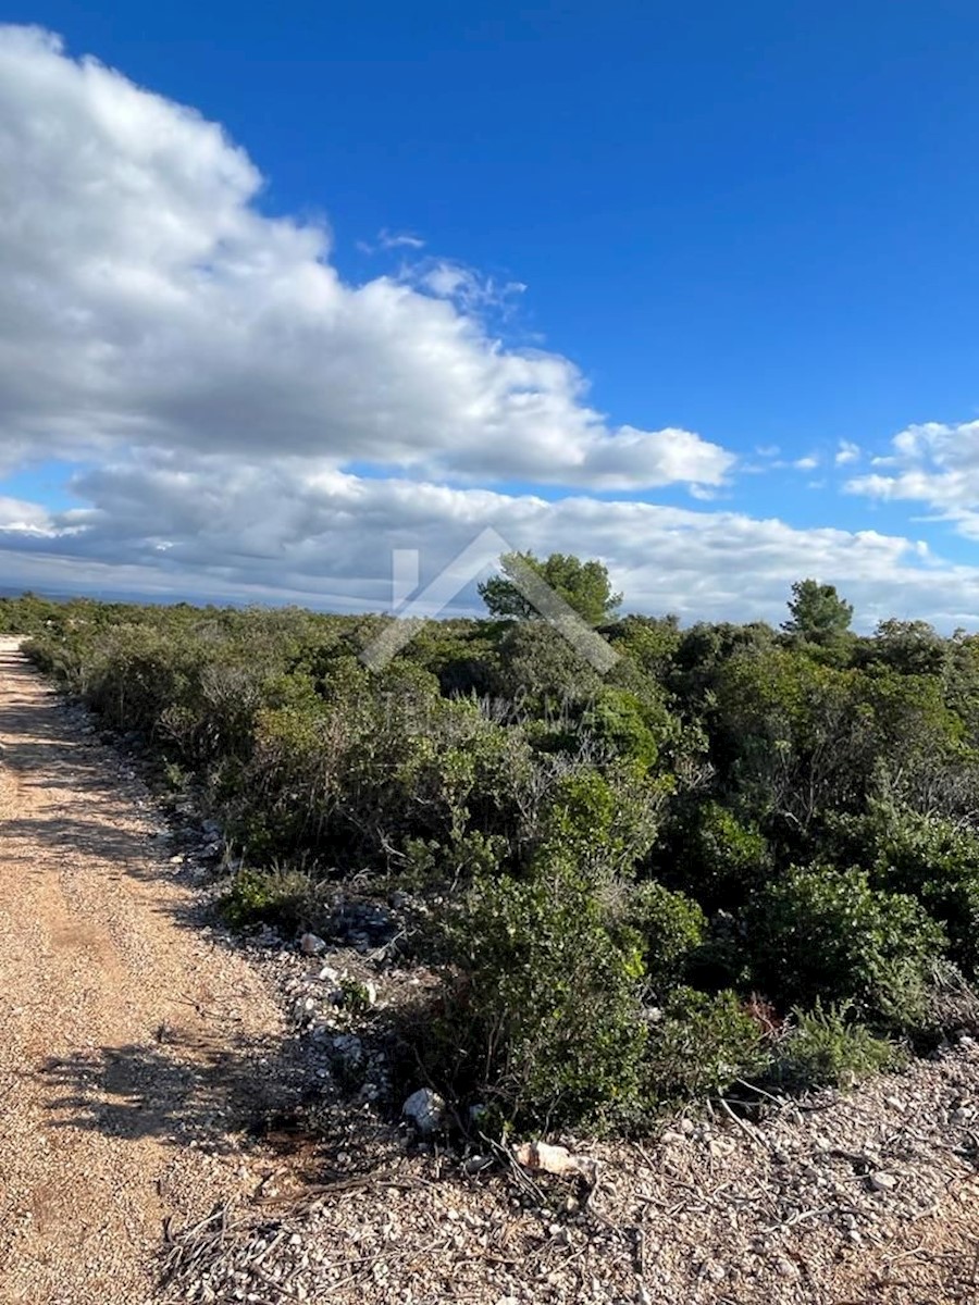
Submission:
[[[8,459],[127,442],[636,488],[734,463],[610,427],[572,361],[504,347],[446,269],[345,283],[322,227],[260,213],[219,127],[34,29],[0,29],[0,176]]]

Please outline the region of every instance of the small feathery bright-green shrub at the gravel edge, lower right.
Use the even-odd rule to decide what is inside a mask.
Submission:
[[[868,1074],[893,1069],[901,1052],[865,1024],[847,1019],[846,1005],[794,1010],[792,1027],[779,1043],[771,1079],[799,1091],[811,1087],[851,1087]]]

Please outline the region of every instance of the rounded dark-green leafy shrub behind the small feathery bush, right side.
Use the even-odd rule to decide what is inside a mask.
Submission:
[[[864,870],[792,868],[749,912],[756,985],[785,1006],[852,1002],[860,1019],[912,1027],[945,934],[912,897]]]

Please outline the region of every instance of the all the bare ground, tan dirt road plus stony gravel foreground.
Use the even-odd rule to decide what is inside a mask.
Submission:
[[[232,937],[219,829],[9,650],[0,745],[0,1300],[979,1298],[969,1039],[757,1124],[556,1139],[594,1184],[452,1151],[385,1105],[399,900]]]

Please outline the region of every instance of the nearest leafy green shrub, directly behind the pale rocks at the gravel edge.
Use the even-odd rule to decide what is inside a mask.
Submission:
[[[435,1082],[517,1125],[608,1129],[637,1116],[642,960],[573,867],[551,857],[530,880],[480,876],[443,944],[452,967],[426,1048]]]

